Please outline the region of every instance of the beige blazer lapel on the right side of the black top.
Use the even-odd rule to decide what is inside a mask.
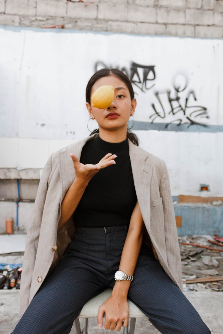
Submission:
[[[147,231],[150,230],[150,183],[152,177],[152,166],[146,159],[146,151],[141,150],[129,140],[129,156],[132,167],[132,175],[135,191],[142,213],[142,218]]]

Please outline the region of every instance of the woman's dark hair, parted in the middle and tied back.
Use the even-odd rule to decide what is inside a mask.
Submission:
[[[132,88],[132,84],[129,78],[127,77],[127,75],[125,75],[122,71],[120,71],[117,68],[111,68],[111,69],[102,68],[102,69],[99,69],[97,72],[95,72],[90,78],[90,80],[88,81],[88,84],[86,87],[86,102],[91,104],[91,89],[93,85],[95,84],[95,82],[98,79],[103,78],[104,76],[111,76],[111,75],[117,76],[120,80],[122,80],[126,84],[129,90],[129,93],[130,93],[131,100],[134,99],[134,91]],[[92,131],[90,136],[95,133],[99,133],[99,129]],[[127,138],[130,139],[133,144],[135,144],[136,146],[139,146],[138,137],[134,133],[132,133],[129,129],[127,129]]]

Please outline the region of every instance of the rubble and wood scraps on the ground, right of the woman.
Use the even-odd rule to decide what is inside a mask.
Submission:
[[[184,291],[223,291],[223,238],[178,237]]]

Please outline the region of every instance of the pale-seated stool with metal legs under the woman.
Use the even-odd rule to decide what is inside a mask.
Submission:
[[[87,334],[88,333],[88,318],[97,318],[98,316],[98,309],[103,302],[111,296],[112,289],[106,289],[98,296],[91,298],[82,308],[81,313],[75,319],[74,325],[76,328],[77,334]],[[135,331],[135,321],[136,318],[145,318],[148,317],[142,313],[131,301],[128,301],[129,306],[129,318],[130,319],[130,326],[123,327],[123,334],[134,334]],[[79,318],[84,318],[84,325],[83,331],[81,331],[80,321]],[[128,330],[129,327],[129,330]]]

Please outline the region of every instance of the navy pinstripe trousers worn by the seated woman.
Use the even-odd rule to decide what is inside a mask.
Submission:
[[[41,285],[12,334],[66,334],[84,304],[113,288],[126,226],[77,228],[51,276]],[[211,333],[188,299],[143,243],[128,299],[166,334]]]

